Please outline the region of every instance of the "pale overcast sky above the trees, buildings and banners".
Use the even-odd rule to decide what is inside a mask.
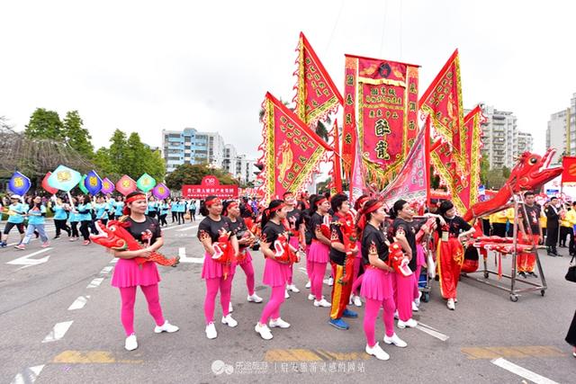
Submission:
[[[78,110],[95,147],[112,131],[218,130],[257,156],[266,91],[292,100],[304,31],[342,90],[344,54],[420,68],[420,94],[455,48],[464,107],[515,112],[545,147],[551,113],[576,92],[576,2],[13,1],[0,3],[0,115]],[[340,110],[341,113],[341,110]]]

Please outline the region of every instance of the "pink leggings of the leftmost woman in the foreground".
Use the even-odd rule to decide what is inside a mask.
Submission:
[[[148,302],[148,312],[157,326],[164,325],[162,308],[160,308],[160,296],[158,295],[158,284],[140,285],[140,290]],[[120,297],[122,301],[121,322],[127,336],[134,334],[134,303],[136,302],[136,286],[120,288]]]

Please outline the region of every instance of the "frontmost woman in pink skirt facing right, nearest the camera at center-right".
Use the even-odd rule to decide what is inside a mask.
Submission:
[[[386,330],[384,343],[406,347],[407,344],[394,333],[394,299],[392,295],[392,278],[394,269],[388,265],[388,244],[382,231],[386,212],[383,202],[369,200],[365,203],[363,214],[358,221],[358,231],[362,239],[362,262],[364,263],[364,277],[360,294],[365,298],[364,331],[366,335],[365,352],[379,360],[388,360],[390,356],[385,353],[375,337],[376,318],[380,308],[383,308],[383,322]],[[397,238],[402,244],[405,237]],[[410,252],[410,246],[403,246]],[[408,249],[406,249],[408,248]]]

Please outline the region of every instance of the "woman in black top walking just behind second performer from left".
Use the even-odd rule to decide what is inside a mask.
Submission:
[[[240,206],[238,201],[229,201],[226,205],[224,214],[232,222],[231,230],[232,234],[236,236],[238,240],[238,265],[242,268],[242,271],[246,274],[246,285],[248,290],[247,300],[253,303],[261,303],[262,298],[259,297],[255,290],[254,282],[254,267],[252,266],[252,255],[248,252],[248,247],[254,243],[255,236],[247,228],[246,221],[244,218],[240,217]]]

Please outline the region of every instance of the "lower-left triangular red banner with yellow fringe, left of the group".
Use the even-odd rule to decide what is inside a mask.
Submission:
[[[264,141],[258,148],[263,156],[257,163],[264,164],[264,171],[258,177],[270,201],[298,192],[332,148],[272,94],[266,94],[263,108]]]

